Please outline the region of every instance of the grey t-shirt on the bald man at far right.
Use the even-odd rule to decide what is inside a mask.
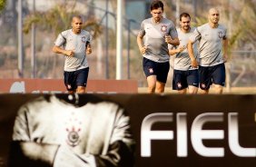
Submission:
[[[222,40],[227,38],[227,29],[223,25],[212,28],[205,24],[196,28],[191,35],[192,43],[199,41],[199,61],[202,66],[213,66],[223,63]]]

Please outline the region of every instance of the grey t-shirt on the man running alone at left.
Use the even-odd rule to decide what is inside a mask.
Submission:
[[[54,42],[57,46],[63,46],[65,50],[74,50],[74,56],[65,56],[64,71],[74,72],[89,67],[86,58],[86,44],[91,43],[92,35],[82,30],[80,34],[74,34],[72,29],[58,35]]]

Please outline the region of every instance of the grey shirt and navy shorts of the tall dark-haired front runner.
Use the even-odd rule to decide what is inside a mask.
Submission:
[[[162,18],[158,24],[153,22],[153,17],[143,20],[139,32],[139,36],[144,36],[144,45],[147,47],[143,54],[143,71],[146,77],[156,75],[156,80],[161,83],[166,83],[170,69],[166,35],[170,35],[172,39],[178,37],[171,20]]]

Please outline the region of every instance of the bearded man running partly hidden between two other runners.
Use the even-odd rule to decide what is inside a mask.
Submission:
[[[169,44],[170,50],[169,54],[174,55],[174,71],[172,80],[172,89],[178,90],[178,93],[187,93],[187,88],[189,93],[197,93],[199,86],[199,75],[198,68],[192,67],[191,58],[188,54],[187,44],[189,37],[195,30],[191,27],[191,16],[187,13],[182,13],[180,15],[180,25],[178,36],[180,39],[180,45],[174,47]],[[197,43],[193,44],[193,54],[197,59]]]

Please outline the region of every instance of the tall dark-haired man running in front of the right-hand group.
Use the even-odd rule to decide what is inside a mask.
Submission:
[[[153,1],[153,17],[143,20],[137,44],[143,54],[143,71],[147,77],[149,93],[163,93],[170,69],[168,44],[180,44],[171,20],[162,17],[163,4]],[[144,41],[143,41],[144,37]]]

